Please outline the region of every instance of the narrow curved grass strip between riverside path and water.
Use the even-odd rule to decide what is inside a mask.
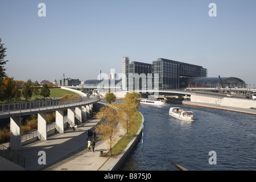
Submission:
[[[142,115],[138,113],[137,115],[137,126],[133,131],[129,131],[128,137],[122,137],[112,148],[112,155],[119,155],[126,148],[126,146],[130,143],[131,139],[137,134],[139,127],[142,125]]]

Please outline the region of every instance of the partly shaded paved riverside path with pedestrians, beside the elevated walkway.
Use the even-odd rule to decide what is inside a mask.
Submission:
[[[78,126],[78,131],[68,130],[64,134],[55,134],[47,141],[38,141],[22,146],[19,154],[26,157],[26,169],[31,171],[98,171],[107,170],[114,158],[100,156],[100,151],[107,151],[108,145],[102,140],[96,140],[94,152],[88,152],[88,129],[94,131],[98,119],[92,118]],[[125,134],[120,130],[117,141]],[[39,151],[46,152],[46,164],[38,164]]]

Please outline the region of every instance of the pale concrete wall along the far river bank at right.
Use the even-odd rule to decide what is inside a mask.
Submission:
[[[251,107],[256,107],[255,100],[245,100],[240,98],[214,98],[214,97],[204,97],[204,96],[191,96],[191,102],[200,102],[207,104],[216,104],[220,106],[230,106],[230,107],[241,107],[249,109]]]

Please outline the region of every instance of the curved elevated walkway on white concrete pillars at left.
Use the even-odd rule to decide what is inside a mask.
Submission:
[[[75,92],[72,89],[73,92]],[[79,92],[79,91],[77,91]],[[75,126],[75,119],[78,122],[86,120],[92,114],[93,104],[100,101],[100,96],[89,97],[79,93],[82,97],[69,100],[49,100],[25,102],[19,104],[0,105],[0,118],[10,117],[10,149],[21,150],[21,117],[22,115],[38,114],[38,138],[47,140],[47,118],[48,112],[56,112],[55,129],[59,133],[64,133],[64,122]],[[67,117],[64,116],[67,110]]]

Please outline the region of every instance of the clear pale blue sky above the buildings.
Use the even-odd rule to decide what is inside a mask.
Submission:
[[[46,17],[39,17],[39,3]],[[217,17],[210,17],[209,3]],[[0,1],[7,75],[15,80],[97,79],[121,73],[122,57],[162,57],[208,69],[208,77],[256,84],[255,0]]]

